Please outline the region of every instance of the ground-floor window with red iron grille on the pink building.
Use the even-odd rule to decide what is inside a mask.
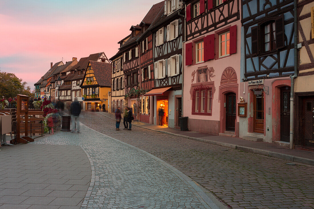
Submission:
[[[212,88],[198,86],[193,89],[192,115],[212,114]]]

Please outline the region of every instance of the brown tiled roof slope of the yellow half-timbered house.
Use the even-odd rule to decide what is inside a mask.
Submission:
[[[89,61],[100,87],[111,87],[111,63]]]

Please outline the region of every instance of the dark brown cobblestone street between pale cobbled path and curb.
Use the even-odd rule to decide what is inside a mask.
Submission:
[[[81,122],[174,166],[232,208],[314,208],[314,168],[149,131],[115,130],[115,121],[82,112]]]

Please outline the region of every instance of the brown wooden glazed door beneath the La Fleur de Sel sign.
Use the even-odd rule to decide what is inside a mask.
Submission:
[[[254,112],[254,132],[264,133],[264,94],[263,94],[263,90],[256,90],[254,92],[253,112]]]

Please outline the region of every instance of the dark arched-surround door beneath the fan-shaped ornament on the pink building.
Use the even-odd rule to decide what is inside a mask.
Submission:
[[[236,94],[226,94],[226,131],[235,131]]]

